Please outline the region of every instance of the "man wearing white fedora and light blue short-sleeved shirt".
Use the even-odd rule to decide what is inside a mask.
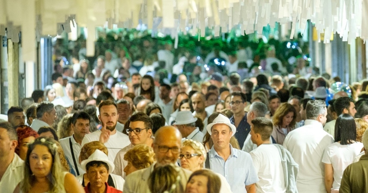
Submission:
[[[206,168],[223,175],[233,193],[256,193],[259,181],[249,153],[233,148],[230,138],[237,132],[229,118],[219,114],[207,125],[213,146],[208,153]]]

